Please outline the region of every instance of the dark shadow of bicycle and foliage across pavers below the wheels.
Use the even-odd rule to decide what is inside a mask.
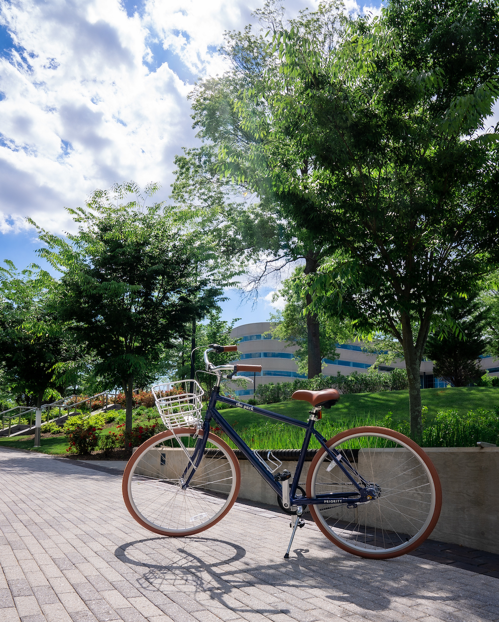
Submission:
[[[208,597],[219,603],[218,606],[240,613],[291,615],[293,600],[298,604],[297,599],[303,602],[314,598],[318,596],[318,588],[324,613],[331,606],[341,607],[345,615],[387,611],[394,607],[398,610],[400,602],[395,603],[395,600],[400,601],[400,598],[406,600],[405,606],[418,605],[428,610],[438,607],[439,602],[444,608],[446,603],[452,603],[452,607],[459,608],[460,615],[464,615],[459,619],[465,619],[467,613],[472,615],[474,611],[473,598],[464,584],[470,573],[449,568],[451,576],[428,560],[408,556],[389,560],[361,559],[332,545],[329,549],[326,543],[315,550],[316,542],[311,542],[311,549],[293,549],[296,557],[276,560],[274,556],[266,562],[265,552],[261,561],[250,559],[247,550],[236,542],[196,536],[180,540],[160,536],[136,540],[121,545],[115,555],[137,569],[142,587],[147,590],[165,593],[172,600],[175,600],[175,592],[194,600],[198,598],[200,603]],[[461,575],[463,572],[466,577]],[[475,587],[480,590],[479,575],[469,578],[477,580]],[[270,588],[275,588],[275,593]],[[260,595],[255,596],[254,590],[259,590]],[[251,598],[255,604],[247,608],[246,603]],[[499,605],[499,597],[490,587],[485,600],[487,603],[483,605],[492,605],[494,609]],[[234,601],[239,601],[240,606]],[[319,603],[317,605],[322,608]]]

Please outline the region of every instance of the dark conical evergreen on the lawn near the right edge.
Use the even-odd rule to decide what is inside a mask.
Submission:
[[[456,323],[454,331],[444,324],[428,337],[425,356],[433,361],[433,374],[455,387],[478,381],[482,370],[478,357],[487,350],[488,313],[477,300],[455,298],[449,317]]]

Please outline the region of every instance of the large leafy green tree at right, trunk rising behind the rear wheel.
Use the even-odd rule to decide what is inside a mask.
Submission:
[[[325,24],[320,11],[308,17]],[[434,315],[499,261],[498,136],[483,133],[499,94],[497,4],[392,0],[345,28],[326,55],[304,19],[273,32],[278,71],[265,67],[262,88],[236,102],[259,141],[221,145],[220,169],[259,169],[252,187],[265,180],[331,250],[309,282],[311,309],[340,307],[362,335],[399,341],[420,440]]]

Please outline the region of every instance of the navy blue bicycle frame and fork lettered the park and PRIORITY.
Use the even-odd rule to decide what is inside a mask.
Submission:
[[[249,404],[245,404],[245,402],[237,402],[231,397],[221,396],[217,391],[218,388],[215,388],[210,396],[208,409],[206,411],[206,415],[204,417],[204,428],[203,428],[203,437],[199,439],[198,443],[196,443],[195,452],[191,457],[191,460],[196,463],[196,466],[201,461],[201,456],[203,455],[204,447],[206,447],[206,443],[208,442],[208,434],[210,428],[210,422],[213,419],[216,423],[221,427],[222,430],[227,434],[229,439],[239,448],[239,450],[243,453],[244,457],[250,461],[250,463],[254,466],[254,468],[260,473],[265,481],[267,481],[268,485],[275,490],[275,492],[282,498],[283,496],[283,488],[282,483],[280,481],[276,481],[274,479],[273,473],[271,473],[265,466],[262,465],[260,460],[255,458],[255,454],[252,449],[241,439],[239,434],[237,434],[236,430],[232,428],[232,426],[227,422],[224,417],[217,411],[215,404],[217,401],[226,402],[226,404],[232,404],[233,406],[237,406],[239,408],[244,408],[245,410],[257,412],[261,415],[265,415],[265,417],[271,417],[272,419],[277,419],[278,421],[282,421],[283,423],[295,425],[296,427],[301,427],[305,430],[305,437],[303,440],[303,445],[301,446],[300,456],[298,457],[298,463],[296,464],[296,471],[293,477],[293,482],[291,483],[290,488],[290,503],[291,505],[313,505],[313,504],[324,504],[327,501],[331,501],[336,503],[362,503],[362,501],[367,501],[363,499],[364,495],[362,494],[362,490],[364,490],[364,486],[367,482],[362,478],[362,476],[357,473],[357,471],[348,463],[344,465],[344,458],[341,455],[341,452],[338,452],[335,449],[330,449],[327,447],[326,442],[327,439],[323,437],[323,435],[319,434],[319,432],[314,429],[315,420],[309,419],[307,422],[300,421],[299,419],[292,419],[291,417],[286,417],[286,415],[280,415],[276,412],[266,411],[263,408],[259,408],[257,406],[249,406]],[[322,447],[326,450],[327,454],[336,462],[336,466],[338,466],[344,473],[344,475],[350,480],[353,486],[357,489],[357,492],[352,491],[351,493],[324,493],[318,494],[313,499],[306,497],[298,497],[296,498],[296,488],[298,487],[298,481],[300,479],[301,470],[303,468],[306,452],[308,450],[308,445],[312,435],[319,441]],[[187,469],[188,470],[188,469]],[[191,473],[191,476],[193,472]],[[359,478],[362,482],[362,485],[355,481],[355,476]],[[188,478],[188,481],[190,478]],[[188,485],[188,481],[186,481],[186,485]]]

